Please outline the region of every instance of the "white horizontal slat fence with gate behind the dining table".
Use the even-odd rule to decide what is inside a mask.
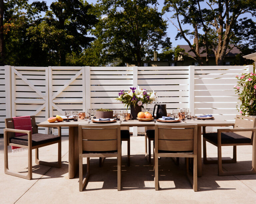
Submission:
[[[192,114],[212,114],[232,121],[238,114],[235,76],[252,70],[252,65],[0,67],[0,133],[6,117],[36,115],[39,123],[64,115],[65,110],[124,110],[124,105],[115,100],[118,92],[137,86],[157,92],[157,103],[166,104],[167,112],[190,108]],[[145,105],[147,109],[153,107],[154,103]]]

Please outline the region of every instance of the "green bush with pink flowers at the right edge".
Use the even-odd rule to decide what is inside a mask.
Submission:
[[[256,115],[256,74],[242,74],[238,79],[237,85],[234,86],[238,99],[241,101],[241,115]],[[238,105],[236,106],[239,110]]]

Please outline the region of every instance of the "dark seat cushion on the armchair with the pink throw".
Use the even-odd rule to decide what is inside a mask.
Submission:
[[[58,135],[47,135],[47,134],[35,133],[35,134],[32,134],[32,146],[42,145],[48,142],[54,142],[59,139],[60,137]],[[24,135],[20,137],[11,137],[10,143],[28,146],[28,135]]]

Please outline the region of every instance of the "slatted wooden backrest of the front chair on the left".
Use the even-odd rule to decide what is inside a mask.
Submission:
[[[82,140],[82,151],[117,151],[117,144],[120,144],[120,125],[79,125],[79,136],[79,142]]]

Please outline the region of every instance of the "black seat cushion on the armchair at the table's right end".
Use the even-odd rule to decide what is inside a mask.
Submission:
[[[203,137],[211,142],[218,143],[217,133],[204,133]],[[233,143],[251,143],[251,139],[238,135],[234,132],[222,132],[221,133],[221,144],[233,144]]]

